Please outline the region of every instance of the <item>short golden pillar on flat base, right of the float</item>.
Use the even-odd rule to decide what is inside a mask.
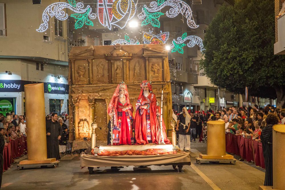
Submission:
[[[226,154],[225,122],[207,122],[207,155],[200,154],[203,159],[233,159]]]

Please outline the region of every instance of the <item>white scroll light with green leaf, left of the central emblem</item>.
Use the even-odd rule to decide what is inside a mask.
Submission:
[[[70,9],[71,11],[74,11],[75,13],[85,13],[83,14],[84,16],[79,18],[79,15],[81,14],[73,14],[74,18],[78,18],[78,27],[83,26],[84,24],[87,25],[92,25],[93,23],[89,20],[90,19],[95,19],[96,14],[92,13],[92,9],[89,5],[87,5],[86,8],[84,8],[83,3],[77,3],[76,5],[74,4],[75,1],[69,1],[70,3],[72,2],[73,4],[70,3],[63,3],[63,2],[58,2],[58,3],[52,3],[46,9],[44,10],[42,14],[42,24],[40,24],[40,27],[36,29],[38,32],[44,32],[48,29],[48,21],[50,18],[55,17],[56,19],[60,21],[64,21],[68,18],[68,14],[63,11],[63,9]],[[91,24],[92,23],[92,24]]]

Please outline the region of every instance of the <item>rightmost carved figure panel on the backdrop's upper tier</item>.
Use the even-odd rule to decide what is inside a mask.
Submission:
[[[151,81],[162,81],[162,58],[149,58]]]

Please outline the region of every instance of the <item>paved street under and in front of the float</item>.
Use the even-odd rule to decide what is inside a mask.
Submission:
[[[65,155],[57,168],[17,170],[16,164],[3,173],[2,189],[258,189],[264,170],[237,161],[233,164],[196,164],[196,157],[206,153],[206,144],[192,143],[191,166],[178,173],[172,166],[133,166],[112,172],[109,167],[80,169],[80,155]]]

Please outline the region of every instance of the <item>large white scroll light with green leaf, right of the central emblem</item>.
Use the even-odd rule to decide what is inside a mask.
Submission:
[[[163,15],[163,13],[160,13],[158,11],[161,11],[161,9],[166,6],[172,7],[168,11],[166,11],[167,17],[173,18],[176,17],[179,13],[181,13],[182,15],[185,15],[187,19],[187,24],[190,28],[199,27],[199,25],[197,25],[193,19],[192,10],[190,6],[181,0],[160,0],[158,3],[156,1],[152,1],[150,3],[149,8],[144,5],[142,13],[138,15],[139,19],[144,19],[141,26],[151,24],[154,27],[160,27],[160,22],[157,18]]]

